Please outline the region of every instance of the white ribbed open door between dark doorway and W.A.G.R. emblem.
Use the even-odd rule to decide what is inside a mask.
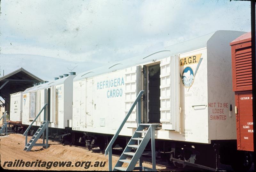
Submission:
[[[180,132],[180,65],[179,55],[161,60],[160,122],[162,129]]]

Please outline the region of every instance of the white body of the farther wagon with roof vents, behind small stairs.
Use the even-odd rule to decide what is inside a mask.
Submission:
[[[36,117],[36,115],[43,108],[44,104],[47,102],[47,89],[50,88],[51,103],[50,119],[48,119],[50,121],[49,127],[62,129],[68,127],[68,120],[72,119],[72,95],[74,77],[75,75],[70,75],[25,90],[23,92],[23,99],[26,98],[26,102],[23,102],[22,105],[22,124],[31,124],[32,120]],[[33,125],[40,126],[43,121],[44,111],[42,111],[40,117],[37,118]]]

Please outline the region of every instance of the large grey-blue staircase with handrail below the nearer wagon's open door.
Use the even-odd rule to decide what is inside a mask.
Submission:
[[[147,170],[147,171],[156,171],[156,152],[155,152],[155,129],[158,124],[141,124],[141,97],[143,90],[139,92],[135,101],[132,104],[131,109],[126,114],[122,124],[119,126],[116,134],[113,136],[111,141],[108,144],[108,147],[105,150],[105,155],[108,154],[108,170],[109,171],[132,171],[132,170]],[[112,169],[112,146],[118,137],[118,134],[122,130],[125,122],[132,113],[134,107],[137,105],[137,129],[133,134],[131,140],[128,142],[128,145],[125,147],[124,152],[117,161],[114,169]],[[142,137],[142,134],[144,137]],[[148,141],[151,139],[151,150],[152,150],[152,168],[147,168],[142,166],[142,161],[140,160],[141,155],[146,148]],[[134,149],[134,152],[132,152]],[[129,159],[129,157],[131,157]],[[139,167],[135,167],[139,161]],[[127,167],[122,167],[126,163]]]

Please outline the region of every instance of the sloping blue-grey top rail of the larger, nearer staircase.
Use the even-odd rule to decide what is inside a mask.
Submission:
[[[132,110],[134,109],[134,107],[136,106],[136,104],[138,103],[138,101],[140,100],[142,94],[144,93],[143,90],[141,90],[138,94],[138,96],[136,97],[135,101],[133,102],[132,104],[132,107],[130,108],[130,110],[128,111],[128,113],[126,114],[122,124],[119,126],[118,130],[116,131],[116,134],[112,137],[111,141],[109,142],[108,144],[108,147],[106,148],[105,150],[105,156],[108,154],[109,150],[112,149],[112,146],[116,140],[116,138],[118,137],[118,134],[121,132],[125,122],[127,121],[127,119],[129,118],[129,116],[131,115],[132,113]],[[139,119],[138,119],[139,120]],[[109,162],[110,163],[110,162]]]

